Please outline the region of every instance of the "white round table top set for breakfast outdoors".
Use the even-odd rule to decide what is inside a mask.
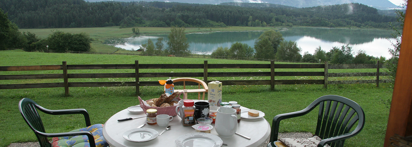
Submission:
[[[202,101],[202,100],[194,100]],[[206,100],[204,100],[206,101]],[[248,108],[241,107],[242,112],[248,111]],[[123,138],[124,132],[136,128],[142,124],[146,124],[146,117],[132,119],[127,121],[117,121],[117,119],[124,119],[129,117],[145,116],[145,113],[133,114],[127,111],[127,108],[114,114],[103,126],[103,137],[112,147],[176,147],[175,141],[180,135],[186,133],[194,133],[195,130],[191,126],[183,126],[182,119],[178,116],[173,117],[169,126],[171,129],[165,131],[161,136],[157,136],[154,140],[147,142],[131,142]],[[215,124],[212,124],[213,129],[211,134],[219,136],[227,147],[260,147],[270,136],[270,125],[265,118],[245,119],[241,118],[238,123],[236,133],[250,137],[248,140],[239,135],[225,138],[215,130]],[[143,128],[152,128],[161,133],[166,127],[157,125],[145,125]]]

